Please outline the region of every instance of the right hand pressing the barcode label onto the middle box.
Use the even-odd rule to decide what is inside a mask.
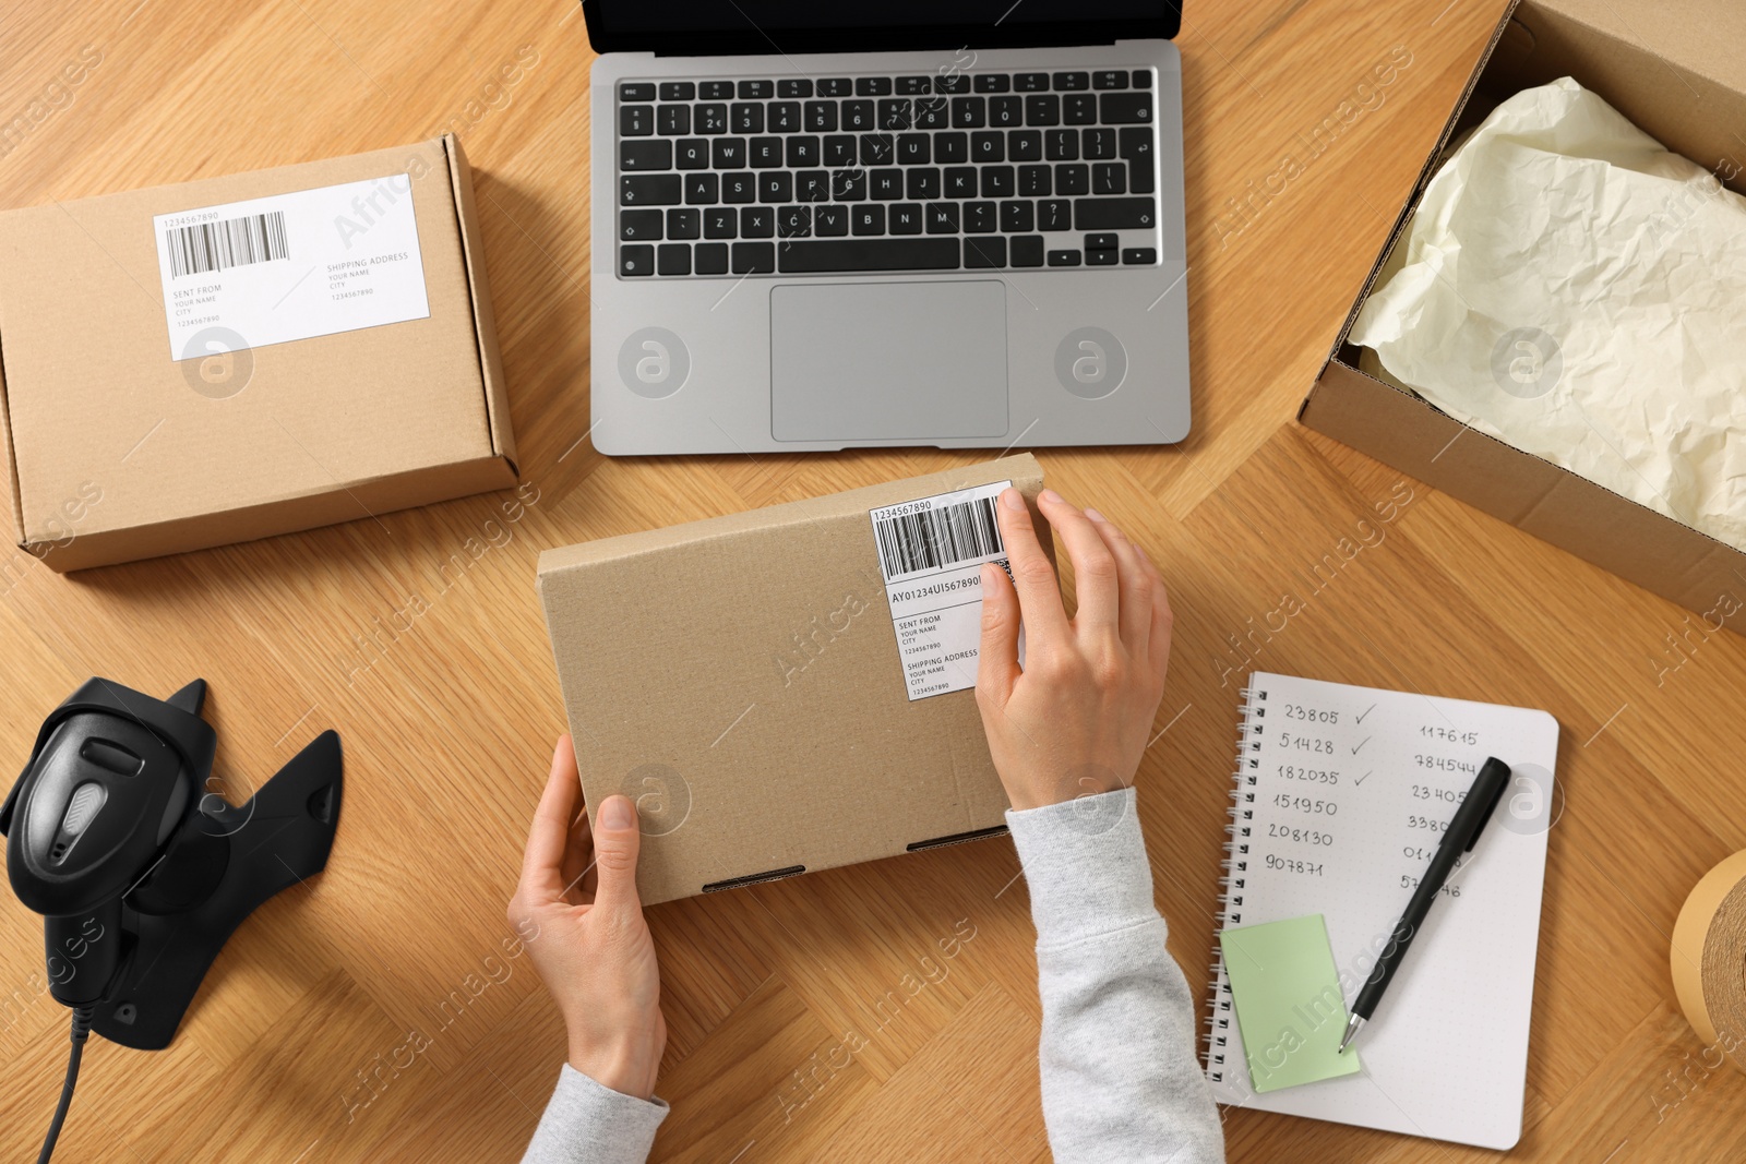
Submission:
[[[1013,578],[983,565],[976,705],[1013,808],[1133,784],[1170,663],[1170,602],[1145,553],[1096,510],[1081,513],[1055,490],[1037,504],[1074,564],[1079,609],[1067,618],[1025,499],[1004,490],[995,510]]]

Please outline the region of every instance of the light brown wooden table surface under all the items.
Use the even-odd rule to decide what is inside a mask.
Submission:
[[[1250,665],[1543,707],[1563,728],[1568,798],[1512,1155],[1737,1159],[1746,1085],[1711,1068],[1680,1016],[1667,935],[1697,878],[1746,843],[1746,640],[1706,639],[1674,606],[1292,419],[1500,10],[1189,5],[1194,435],[1039,455],[1172,586],[1175,656],[1140,810],[1194,989]],[[96,61],[82,82],[51,89],[79,58]],[[243,927],[169,1051],[93,1040],[59,1159],[517,1159],[564,1056],[533,967],[503,946],[564,728],[538,551],[981,459],[594,452],[588,59],[571,0],[21,0],[0,16],[0,206],[454,129],[538,497],[512,525],[485,496],[72,578],[23,555],[0,569],[9,766],[93,674],[161,695],[211,681],[232,799],[316,731],[346,740],[327,873]],[[1390,59],[1393,82],[1343,120]],[[1339,131],[1313,152],[1330,115]],[[1301,166],[1269,180],[1285,155]],[[1325,555],[1339,567],[1315,572]],[[414,597],[428,609],[409,625],[396,611]],[[1301,609],[1268,630],[1285,597]],[[655,1157],[1046,1159],[1016,873],[997,839],[655,907],[672,1103]],[[37,1150],[66,1019],[44,993],[38,918],[0,894],[5,1159]],[[850,1056],[845,1040],[864,1045]],[[1226,1131],[1231,1161],[1491,1155],[1243,1110]]]

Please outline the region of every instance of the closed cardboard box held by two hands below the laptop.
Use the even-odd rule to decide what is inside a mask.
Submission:
[[[974,689],[911,698],[974,684],[980,583],[953,579],[980,567],[887,588],[903,518],[882,517],[887,550],[871,513],[925,497],[966,515],[980,503],[939,494],[992,482],[1034,503],[1042,468],[1027,454],[540,555],[583,794],[590,811],[637,801],[644,904],[1006,831]]]

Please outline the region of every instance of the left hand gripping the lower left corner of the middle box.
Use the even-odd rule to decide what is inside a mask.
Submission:
[[[510,925],[522,935],[569,1031],[569,1065],[637,1099],[655,1094],[667,1047],[655,942],[637,900],[637,810],[599,808],[599,836],[576,813],[576,750],[560,736],[534,810]],[[574,822],[573,822],[574,820]]]

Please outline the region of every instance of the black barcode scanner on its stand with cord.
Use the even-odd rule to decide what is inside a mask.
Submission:
[[[154,700],[91,679],[54,709],[0,808],[12,892],[44,914],[49,993],[73,1007],[73,1054],[44,1143],[54,1150],[86,1035],[159,1051],[257,906],[327,866],[339,735],[323,731],[243,805],[210,791],[218,736],[206,681]]]

